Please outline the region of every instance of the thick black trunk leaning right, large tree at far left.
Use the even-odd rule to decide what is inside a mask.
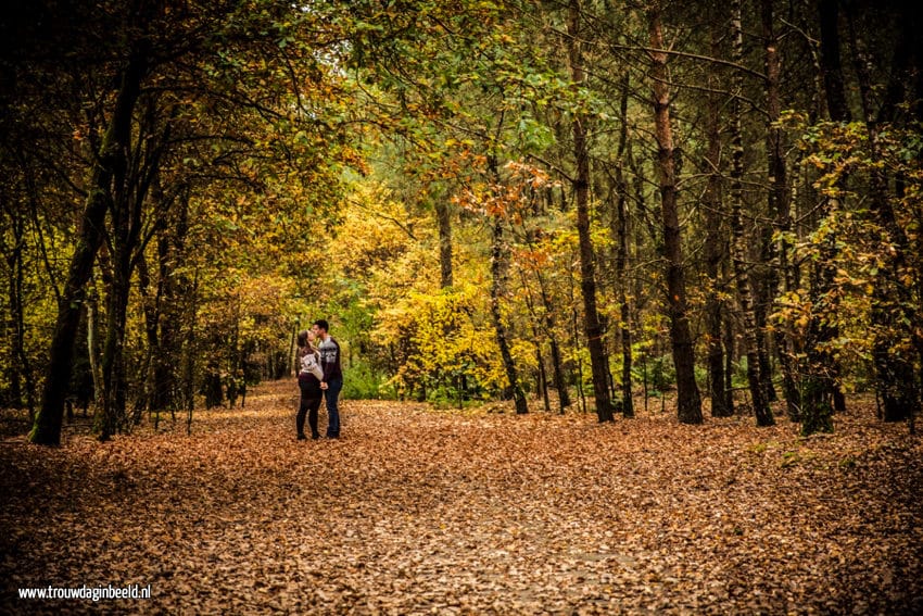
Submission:
[[[102,242],[105,212],[113,199],[113,177],[126,164],[131,140],[131,114],[148,67],[147,47],[146,41],[141,39],[122,74],[115,109],[90,174],[77,244],[71,257],[67,281],[58,306],[41,410],[29,433],[29,441],[34,443],[61,442],[64,399],[74,365],[74,341],[85,300],[85,287],[92,272],[97,250]]]

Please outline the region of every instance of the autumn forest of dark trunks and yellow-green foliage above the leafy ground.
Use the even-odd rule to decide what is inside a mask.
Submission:
[[[10,9],[3,432],[180,439],[290,379],[323,317],[349,401],[669,416],[685,443],[864,417],[912,494],[920,22],[899,0]]]

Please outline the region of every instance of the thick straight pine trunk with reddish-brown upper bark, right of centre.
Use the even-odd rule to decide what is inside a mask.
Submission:
[[[647,11],[650,47],[665,49],[660,7],[656,2]],[[663,250],[667,260],[667,304],[670,314],[670,339],[677,369],[677,405],[680,422],[701,424],[701,399],[695,382],[695,355],[686,309],[685,275],[680,237],[677,200],[675,154],[670,127],[670,78],[667,53],[652,52],[654,120],[657,138],[657,168],[663,221]]]

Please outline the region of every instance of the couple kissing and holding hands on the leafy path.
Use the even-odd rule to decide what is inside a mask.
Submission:
[[[295,426],[298,440],[305,440],[304,419],[311,427],[311,438],[320,438],[317,431],[317,410],[320,399],[327,401],[327,438],[340,438],[340,410],[337,406],[343,389],[343,370],[340,367],[340,344],[328,330],[329,324],[319,318],[311,329],[298,335],[298,386],[301,390]]]

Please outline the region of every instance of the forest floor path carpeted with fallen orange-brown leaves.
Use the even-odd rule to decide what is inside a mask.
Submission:
[[[0,613],[923,613],[923,441],[873,403],[800,439],[345,401],[343,438],[301,442],[294,406],[288,381],[191,436],[4,437]],[[18,598],[49,584],[152,598]]]

